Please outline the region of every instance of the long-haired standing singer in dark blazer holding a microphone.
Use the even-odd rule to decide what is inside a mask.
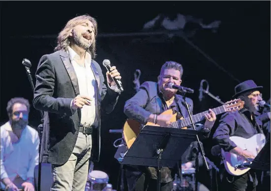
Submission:
[[[44,111],[40,161],[53,168],[56,191],[83,191],[89,159],[100,154],[100,110],[110,113],[120,90],[115,66],[106,73],[108,87],[95,57],[97,23],[89,15],[66,24],[55,53],[44,55],[36,71],[33,105]]]

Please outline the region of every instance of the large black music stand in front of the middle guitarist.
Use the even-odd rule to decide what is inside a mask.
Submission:
[[[157,167],[157,191],[160,191],[161,167],[174,168],[198,133],[197,130],[145,126],[119,161]]]

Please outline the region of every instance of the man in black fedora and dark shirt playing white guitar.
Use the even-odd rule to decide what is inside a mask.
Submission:
[[[263,133],[263,123],[259,119],[259,102],[262,100],[260,90],[253,80],[241,82],[235,87],[233,98],[244,101],[244,108],[236,112],[227,112],[221,116],[219,125],[213,134],[213,139],[225,152],[233,152],[246,158],[254,159],[253,153],[238,147],[230,136],[250,138],[257,133]],[[270,120],[270,112],[269,112]],[[220,168],[221,184],[219,191],[256,191],[258,180],[256,172],[250,169],[240,176],[230,175],[223,165]]]

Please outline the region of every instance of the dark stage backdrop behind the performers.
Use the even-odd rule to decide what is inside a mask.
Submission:
[[[156,81],[165,61],[181,63],[184,68],[182,85],[195,90],[195,94],[189,95],[194,100],[194,113],[219,106],[209,96],[199,102],[202,79],[209,82],[209,91],[224,102],[234,95],[234,87],[247,79],[263,85],[264,99],[270,98],[270,1],[1,1],[0,5],[1,123],[8,120],[5,108],[10,98],[23,96],[30,102],[33,98],[22,60],[30,60],[35,79],[39,59],[53,52],[56,36],[69,19],[85,13],[97,19],[96,61],[104,74],[104,59],[116,65],[125,90],[114,112],[102,115],[101,160],[94,167],[109,174],[114,188],[120,165],[114,159],[113,142],[121,135],[110,134],[109,129],[122,128],[126,120],[123,105],[134,94],[136,69],[142,71],[140,82],[143,83]],[[143,25],[160,13],[191,15],[203,19],[205,24],[221,21],[215,33],[199,29],[188,37],[188,42],[215,62],[180,36],[125,35],[143,32]],[[106,35],[108,33],[115,36]],[[120,33],[122,36],[117,35]],[[39,123],[39,112],[31,107],[30,125],[37,127]],[[210,140],[206,145],[210,156]]]

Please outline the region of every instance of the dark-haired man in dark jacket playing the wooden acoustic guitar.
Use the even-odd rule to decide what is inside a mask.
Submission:
[[[182,65],[176,62],[166,62],[161,68],[158,76],[158,83],[144,82],[135,96],[126,101],[124,113],[129,119],[135,119],[143,125],[147,122],[167,127],[170,124],[172,115],[163,114],[168,109],[178,112],[178,117],[186,118],[188,111],[185,106],[184,97],[177,95],[177,90],[169,88],[169,82],[181,85],[183,73]],[[186,97],[186,102],[190,105],[189,110],[192,114],[193,101]],[[162,114],[161,114],[162,113]],[[210,129],[216,119],[215,113],[210,110],[206,114],[206,122],[203,130],[209,136]],[[143,176],[142,176],[143,175]],[[156,169],[144,166],[125,166],[125,176],[129,191],[154,191],[156,190]],[[161,169],[161,191],[171,191],[174,175],[171,169],[163,167]],[[143,181],[141,181],[143,180]]]

